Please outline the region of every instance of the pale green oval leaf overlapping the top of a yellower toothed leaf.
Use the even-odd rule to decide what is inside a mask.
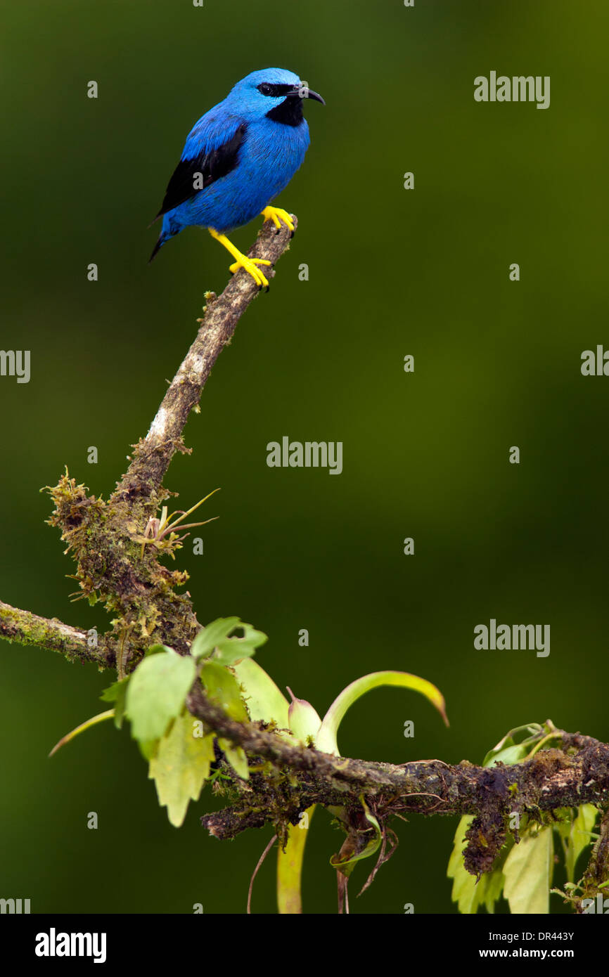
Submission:
[[[170,648],[144,658],[130,677],[125,714],[140,744],[159,740],[180,714],[196,677],[196,663]],[[149,750],[150,752],[150,750]]]

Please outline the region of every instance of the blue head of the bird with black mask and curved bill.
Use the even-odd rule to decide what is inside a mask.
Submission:
[[[252,121],[266,116],[286,125],[298,125],[302,121],[304,99],[326,105],[322,96],[311,91],[297,74],[282,67],[252,71],[241,78],[229,95],[229,100],[239,105],[240,112]]]

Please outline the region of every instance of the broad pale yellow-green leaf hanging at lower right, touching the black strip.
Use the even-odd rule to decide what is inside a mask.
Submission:
[[[510,913],[549,913],[552,838],[552,828],[532,825],[505,859],[503,895]]]

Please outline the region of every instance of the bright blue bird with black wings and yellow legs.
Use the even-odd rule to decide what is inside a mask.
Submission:
[[[207,228],[235,258],[231,272],[244,268],[259,287],[269,282],[226,232],[258,214],[281,229],[294,230],[287,211],[270,206],[287,186],[309,148],[303,99],[326,105],[297,74],[280,67],[252,71],[219,105],[210,108],[189,133],[158,214],[163,219],[151,261],[165,241],[189,226]]]

